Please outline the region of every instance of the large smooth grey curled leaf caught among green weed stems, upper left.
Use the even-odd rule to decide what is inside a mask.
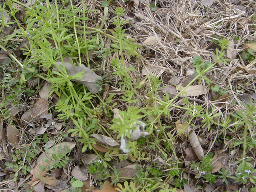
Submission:
[[[59,67],[62,65],[62,62],[56,62],[56,65]],[[91,69],[86,68],[85,66],[74,66],[70,63],[64,62],[67,74],[73,76],[78,72],[84,72],[81,79],[73,79],[73,81],[78,82],[86,86],[91,93],[98,93],[100,90],[100,85],[96,83],[96,80],[102,81],[102,77],[98,76]]]

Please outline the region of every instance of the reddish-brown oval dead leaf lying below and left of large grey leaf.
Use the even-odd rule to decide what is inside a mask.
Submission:
[[[42,120],[42,118],[40,118],[40,116],[42,114],[47,113],[48,108],[49,108],[48,100],[46,100],[44,98],[38,99],[33,108],[32,117],[36,118],[37,121]]]

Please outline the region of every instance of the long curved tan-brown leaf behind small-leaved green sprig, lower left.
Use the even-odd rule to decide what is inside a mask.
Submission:
[[[59,150],[60,146],[61,150]],[[64,149],[65,146],[67,146],[67,150]],[[50,160],[53,160],[52,154],[58,154],[59,152],[64,152],[65,154],[67,154],[68,150],[72,150],[75,146],[76,143],[73,142],[63,142],[55,145],[55,151],[53,151],[52,148],[50,148],[48,153],[44,152],[38,157],[38,159],[36,160],[36,164],[34,165],[34,169],[30,173],[33,174],[34,170],[38,168],[39,164],[46,160],[46,157],[49,157]]]

